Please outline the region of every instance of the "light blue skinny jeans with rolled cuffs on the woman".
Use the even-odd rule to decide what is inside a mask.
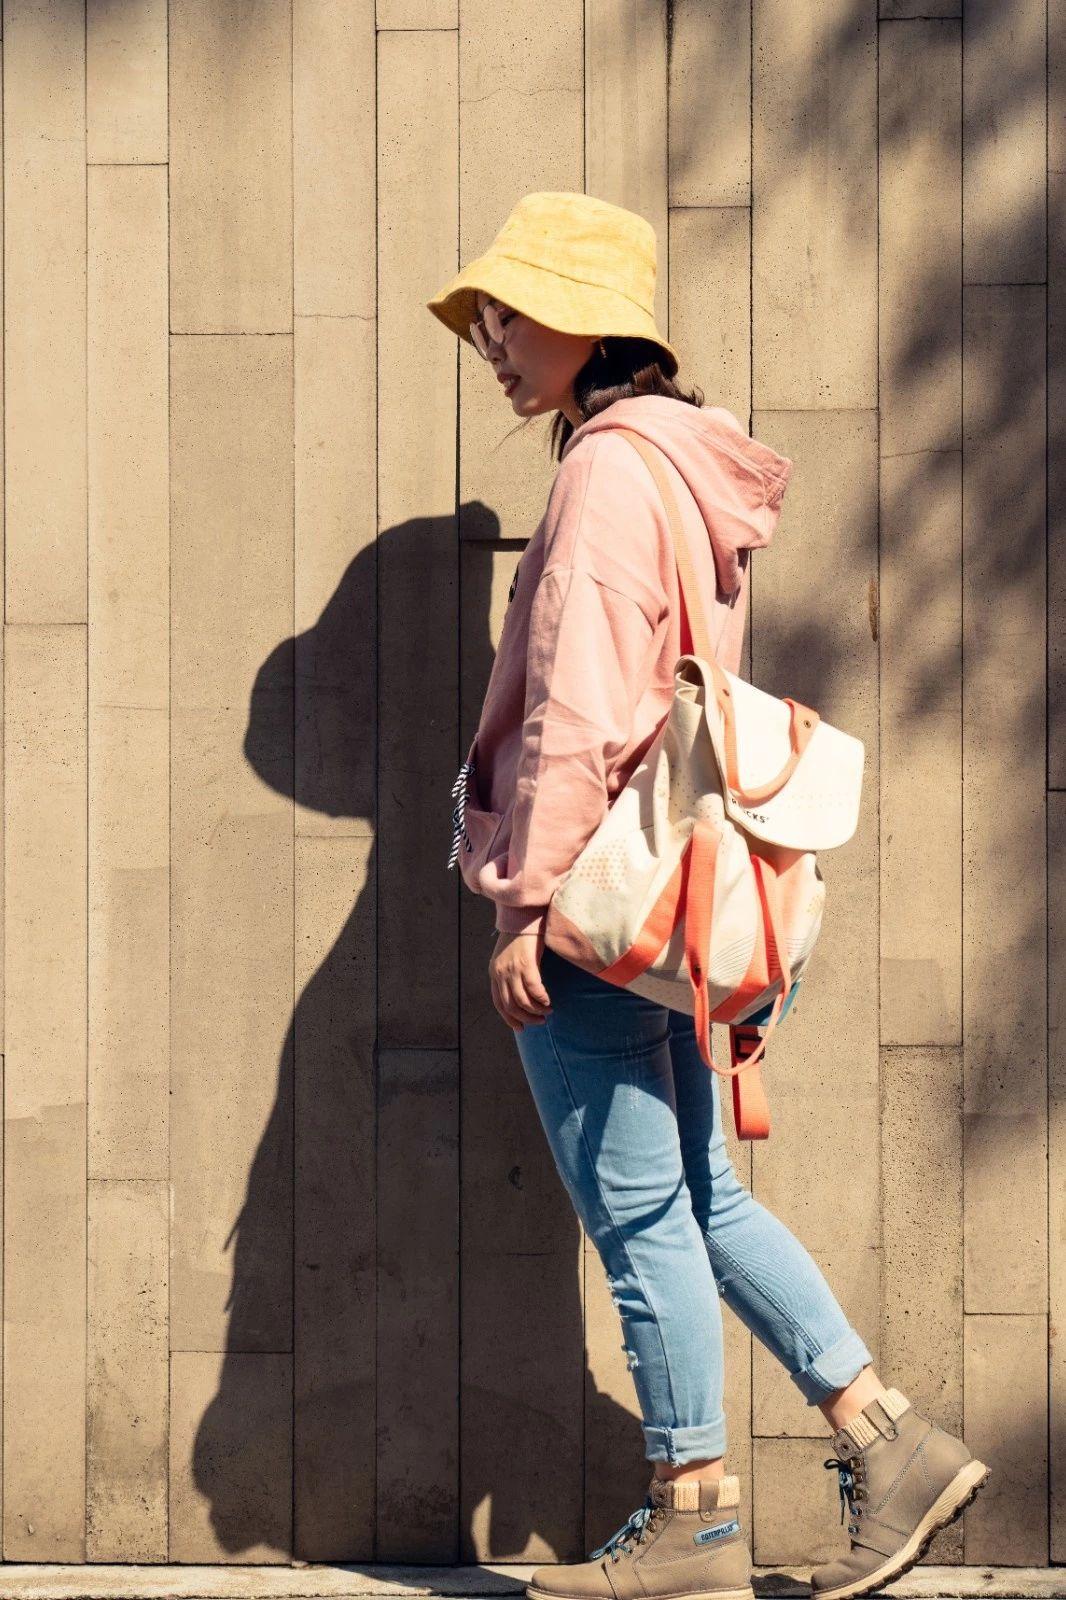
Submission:
[[[813,1258],[730,1162],[693,1019],[544,949],[552,1014],[515,1030],[559,1174],[621,1318],[648,1461],[725,1454],[722,1307],[808,1405],[872,1355]]]

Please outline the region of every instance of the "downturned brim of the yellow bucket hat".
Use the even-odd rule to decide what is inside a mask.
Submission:
[[[677,350],[663,338],[655,318],[626,294],[600,288],[597,283],[565,278],[530,261],[517,261],[514,256],[495,251],[463,267],[450,283],[426,301],[426,309],[445,328],[472,344],[471,323],[477,320],[479,290],[559,333],[650,339],[666,352],[674,363],[674,373],[679,368]]]

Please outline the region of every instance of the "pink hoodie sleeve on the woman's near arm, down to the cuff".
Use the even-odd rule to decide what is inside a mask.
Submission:
[[[563,466],[530,613],[509,850],[506,862],[488,861],[479,875],[501,933],[543,930],[559,882],[607,814],[608,763],[631,742],[656,634],[655,600],[618,582],[626,576],[619,530],[639,538],[640,528],[632,493],[602,453]]]

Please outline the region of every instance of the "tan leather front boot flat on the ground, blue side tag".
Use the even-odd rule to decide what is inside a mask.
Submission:
[[[587,1562],[538,1566],[530,1600],[755,1600],[739,1478],[653,1477],[643,1506]]]

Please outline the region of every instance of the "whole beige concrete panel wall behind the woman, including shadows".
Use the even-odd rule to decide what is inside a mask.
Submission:
[[[573,1560],[643,1491],[445,870],[552,464],[424,301],[551,187],[795,459],[749,669],[868,744],[738,1170],[996,1467],[927,1560],[1066,1560],[1048,11],[5,0],[5,1560]],[[723,1314],[755,1562],[824,1560]]]

